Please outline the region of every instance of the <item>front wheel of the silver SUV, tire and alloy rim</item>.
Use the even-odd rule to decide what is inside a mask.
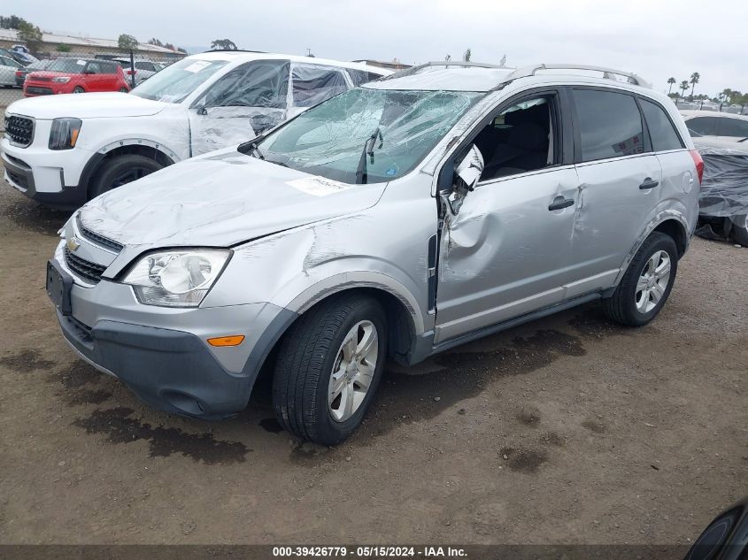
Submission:
[[[275,363],[273,404],[281,426],[335,445],[361,424],[387,352],[382,306],[362,295],[319,303],[291,326]]]

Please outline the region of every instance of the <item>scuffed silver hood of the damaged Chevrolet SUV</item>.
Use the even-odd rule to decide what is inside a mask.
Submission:
[[[228,247],[373,206],[386,183],[346,185],[220,150],[96,197],[81,222],[127,246]]]

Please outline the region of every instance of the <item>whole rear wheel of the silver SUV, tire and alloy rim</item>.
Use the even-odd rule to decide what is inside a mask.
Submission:
[[[667,302],[677,270],[673,238],[654,232],[631,259],[613,295],[603,300],[605,315],[621,325],[646,325]]]

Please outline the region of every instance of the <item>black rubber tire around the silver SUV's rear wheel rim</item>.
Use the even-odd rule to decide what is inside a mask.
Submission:
[[[636,307],[636,283],[647,267],[650,258],[661,250],[666,251],[667,256],[670,257],[670,277],[667,280],[667,288],[665,288],[663,295],[659,298],[659,302],[652,310],[644,313]],[[603,299],[602,303],[605,315],[613,321],[621,323],[621,325],[646,325],[657,316],[659,310],[667,302],[667,297],[673,289],[677,271],[678,249],[675,246],[675,241],[667,234],[654,232],[647,237],[634,258],[631,259],[626,272],[623,274],[621,283],[615,292],[613,292],[613,295]]]

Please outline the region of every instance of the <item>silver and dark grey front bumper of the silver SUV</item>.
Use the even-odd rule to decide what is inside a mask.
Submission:
[[[78,281],[65,265],[58,268]],[[70,315],[58,310],[62,334],[90,364],[123,381],[145,403],[186,416],[218,419],[243,410],[266,357],[293,311],[271,303],[174,309],[143,305],[129,286],[73,283]],[[236,347],[208,338],[243,334]]]

